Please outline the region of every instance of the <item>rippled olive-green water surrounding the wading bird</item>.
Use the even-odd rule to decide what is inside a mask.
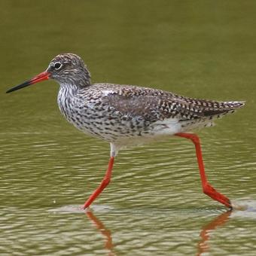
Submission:
[[[0,2],[0,254],[254,255],[256,2]],[[206,197],[185,139],[120,151],[59,114],[58,85],[5,94],[58,53],[78,53],[93,81],[197,98],[246,100],[198,133],[209,181],[245,211]]]

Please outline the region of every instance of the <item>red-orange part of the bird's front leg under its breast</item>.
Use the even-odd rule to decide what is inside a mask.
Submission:
[[[102,193],[104,188],[108,186],[111,179],[113,165],[114,165],[114,157],[110,157],[108,162],[108,169],[105,172],[105,177],[102,179],[102,183],[99,185],[99,187],[97,187],[97,189],[93,192],[93,194],[91,194],[88,200],[84,203],[84,206],[83,206],[84,209],[89,207],[90,204],[93,203],[93,201],[96,199],[96,197],[98,197],[99,194]]]

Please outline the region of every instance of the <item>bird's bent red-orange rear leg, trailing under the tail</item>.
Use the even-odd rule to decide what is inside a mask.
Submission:
[[[203,166],[203,156],[202,156],[199,137],[196,134],[191,134],[191,133],[176,133],[175,136],[180,136],[186,139],[190,139],[196,147],[197,163],[200,169],[200,177],[202,181],[203,193],[209,197],[212,197],[213,200],[216,200],[219,203],[224,204],[224,206],[227,206],[228,208],[232,209],[230,200],[227,197],[225,197],[223,194],[215,190],[215,188],[212,187],[207,181],[205,168]]]

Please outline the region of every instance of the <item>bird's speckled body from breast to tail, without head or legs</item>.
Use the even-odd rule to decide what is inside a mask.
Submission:
[[[132,138],[144,141],[211,126],[215,118],[245,104],[119,84],[92,84],[72,95],[70,90],[61,90],[59,108],[71,123],[85,133],[120,144],[123,140],[129,144],[127,139]]]

